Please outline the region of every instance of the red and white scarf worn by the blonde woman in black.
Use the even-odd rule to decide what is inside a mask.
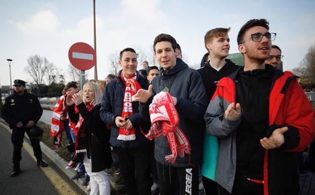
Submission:
[[[89,112],[94,108],[95,106],[93,104],[88,104],[87,105],[87,109],[89,110]],[[78,113],[78,109],[76,108],[76,106],[74,107],[75,113]],[[79,114],[79,119],[76,123],[76,128],[78,129],[77,131],[77,135],[75,137],[75,142],[74,142],[74,148],[75,148],[75,152],[76,153],[80,153],[80,152],[86,152],[86,148],[87,148],[87,135],[85,132],[85,127],[83,125],[84,123],[84,118],[81,116],[81,114]]]

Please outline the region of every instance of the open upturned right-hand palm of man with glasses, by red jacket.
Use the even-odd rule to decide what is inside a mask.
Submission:
[[[275,129],[269,138],[262,138],[260,144],[265,149],[274,149],[280,147],[285,142],[284,133],[288,131],[288,127]]]

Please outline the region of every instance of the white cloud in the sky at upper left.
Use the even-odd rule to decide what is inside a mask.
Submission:
[[[9,21],[9,23],[30,34],[53,33],[60,26],[57,16],[50,10],[37,12],[26,22]]]

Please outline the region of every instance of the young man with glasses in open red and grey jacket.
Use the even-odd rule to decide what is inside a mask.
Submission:
[[[295,152],[314,137],[314,111],[291,72],[269,64],[265,19],[252,19],[238,35],[244,67],[221,79],[205,114],[219,139],[220,194],[297,194]]]

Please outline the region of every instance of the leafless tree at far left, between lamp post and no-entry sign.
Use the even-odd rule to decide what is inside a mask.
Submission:
[[[29,73],[36,85],[43,84],[44,75],[50,66],[50,62],[40,55],[33,55],[27,59],[28,66],[25,71]]]

